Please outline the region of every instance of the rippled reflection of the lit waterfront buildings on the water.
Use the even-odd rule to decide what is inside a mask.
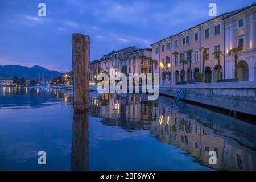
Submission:
[[[207,119],[204,119],[202,124],[198,122],[200,118],[197,120],[191,119],[188,115],[181,114],[177,107],[171,107],[170,104],[166,105],[162,101],[146,101],[140,95],[122,97],[103,94],[101,97],[90,97],[90,105],[92,105],[94,116],[104,118],[102,121],[104,124],[121,126],[128,131],[151,130],[151,135],[156,136],[161,142],[183,149],[188,156],[195,158],[196,162],[210,168],[218,170],[256,169],[256,152],[249,148],[255,147],[251,145],[251,139],[249,138],[253,136],[251,133],[247,134],[248,139],[245,136],[241,137],[243,134],[239,130],[235,131],[225,125],[221,128],[214,126],[218,126],[217,121],[214,120],[205,121]],[[196,109],[200,111],[199,108]],[[213,117],[218,114],[208,112]],[[225,119],[228,119],[228,117]],[[234,122],[233,124],[236,125],[237,123]],[[249,123],[243,123],[242,125],[247,124],[249,125]],[[238,125],[241,125],[241,123],[238,123]],[[220,130],[225,130],[228,137],[218,135],[217,133],[221,133]],[[229,133],[235,133],[236,138],[229,135]],[[240,137],[242,142],[240,140],[236,142],[237,138]],[[247,143],[245,143],[246,139]],[[246,147],[242,146],[241,143]],[[209,151],[216,151],[217,165],[209,165]]]

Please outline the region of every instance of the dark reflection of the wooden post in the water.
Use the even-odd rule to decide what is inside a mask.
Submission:
[[[89,170],[88,113],[73,115],[71,170]]]

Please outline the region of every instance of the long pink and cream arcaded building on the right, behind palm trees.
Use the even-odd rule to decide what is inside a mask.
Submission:
[[[197,72],[205,73],[207,83],[233,79],[234,56],[229,51],[234,47],[243,47],[238,55],[238,81],[256,81],[255,10],[253,4],[224,13],[151,44],[152,59],[159,64],[160,84],[202,81],[196,77]],[[219,64],[214,53],[218,51]]]

